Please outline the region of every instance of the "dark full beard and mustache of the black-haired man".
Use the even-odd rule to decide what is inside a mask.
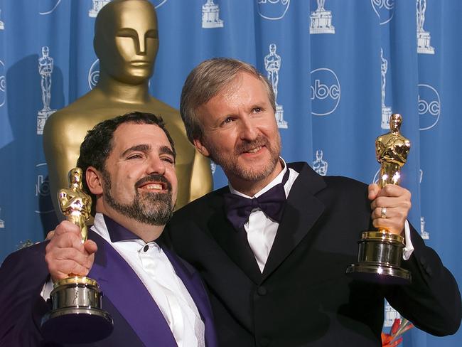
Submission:
[[[119,203],[111,195],[111,177],[107,171],[102,172],[103,196],[109,206],[117,212],[140,223],[149,225],[166,225],[173,215],[172,188],[171,183],[162,175],[152,174],[141,178],[135,183],[136,194],[132,203]],[[142,184],[156,181],[166,184],[167,193],[143,192],[140,193],[137,187]]]

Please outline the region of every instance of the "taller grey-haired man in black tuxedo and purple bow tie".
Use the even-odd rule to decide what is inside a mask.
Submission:
[[[409,227],[409,191],[286,164],[275,110],[271,84],[238,60],[206,60],[183,86],[188,138],[229,185],[176,211],[167,228],[207,284],[220,346],[382,346],[384,299],[419,329],[457,331],[456,281]],[[412,284],[345,274],[373,227],[405,236]]]

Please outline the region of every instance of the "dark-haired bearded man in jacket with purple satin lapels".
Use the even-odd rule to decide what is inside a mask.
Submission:
[[[77,166],[96,210],[90,240],[82,244],[80,228],[63,221],[53,240],[5,260],[0,346],[48,346],[39,329],[45,299],[51,281],[68,274],[95,279],[114,319],[112,334],[91,346],[216,346],[198,273],[161,237],[176,201],[175,159],[173,140],[154,114],[133,112],[88,132]]]

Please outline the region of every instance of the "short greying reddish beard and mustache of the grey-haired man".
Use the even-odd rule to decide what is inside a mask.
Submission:
[[[213,145],[211,146],[206,143],[205,146],[208,147],[210,159],[220,165],[227,175],[231,173],[233,176],[237,176],[245,181],[259,181],[266,178],[274,171],[274,168],[279,161],[281,137],[278,134],[277,139],[275,139],[272,144],[269,142],[267,137],[259,134],[252,142],[242,142],[237,144],[235,147],[235,153],[231,157],[223,156]],[[267,165],[259,171],[254,170],[252,167],[240,166],[237,162],[237,157],[243,152],[249,151],[250,149],[254,149],[258,146],[265,146],[269,150],[271,160],[267,163]]]

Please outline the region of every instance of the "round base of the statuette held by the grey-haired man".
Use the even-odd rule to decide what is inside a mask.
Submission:
[[[358,262],[347,267],[354,279],[380,284],[409,284],[411,273],[401,267],[404,237],[386,230],[362,233]]]

